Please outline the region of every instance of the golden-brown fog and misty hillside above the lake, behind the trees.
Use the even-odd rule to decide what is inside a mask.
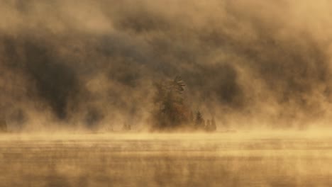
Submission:
[[[219,130],[326,128],[331,6],[319,1],[1,1],[9,130],[153,125],[154,84],[181,76]]]

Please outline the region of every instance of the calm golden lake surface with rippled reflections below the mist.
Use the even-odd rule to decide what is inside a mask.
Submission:
[[[332,139],[7,135],[0,186],[332,186]]]

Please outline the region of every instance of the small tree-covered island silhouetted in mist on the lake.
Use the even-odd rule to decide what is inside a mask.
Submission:
[[[184,98],[184,81],[177,76],[175,79],[155,83],[153,98],[154,131],[216,131],[214,118],[205,120],[201,111],[192,112]]]

